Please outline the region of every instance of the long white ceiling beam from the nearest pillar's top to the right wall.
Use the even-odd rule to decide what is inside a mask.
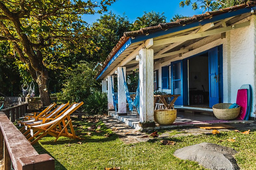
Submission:
[[[210,30],[210,31],[204,31],[204,32],[199,32],[199,33],[195,33],[195,34],[188,34],[188,35],[168,38],[168,39],[164,39],[164,40],[156,40],[156,41],[154,41],[154,45],[163,45],[163,44],[167,44],[167,43],[193,40],[193,39],[197,39],[197,38],[207,37],[207,36],[211,36],[211,35],[214,35],[214,34],[219,34],[219,33],[222,33],[222,32],[230,31],[232,29],[243,28],[243,27],[246,27],[246,26],[249,26],[249,25],[250,25],[250,21],[247,21],[247,22],[243,22],[243,23],[240,23],[240,24],[236,24],[236,25],[231,25],[231,26],[227,26],[227,27],[223,27],[223,28],[213,29],[213,30]],[[232,28],[232,27],[234,27],[234,28]]]

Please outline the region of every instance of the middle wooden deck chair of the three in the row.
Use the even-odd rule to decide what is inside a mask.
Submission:
[[[69,102],[66,104],[59,105],[56,109],[54,109],[52,112],[47,114],[46,116],[36,116],[34,119],[26,120],[26,121],[19,121],[20,125],[24,125],[19,131],[23,133],[24,135],[27,134],[27,126],[30,125],[39,125],[42,123],[49,122],[53,119],[54,116],[58,116],[59,112],[61,112],[64,108],[66,108],[69,105]],[[29,131],[28,131],[29,132]]]

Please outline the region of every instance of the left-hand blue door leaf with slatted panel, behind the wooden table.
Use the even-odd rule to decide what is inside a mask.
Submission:
[[[183,106],[183,62],[182,60],[171,62],[172,94],[181,95],[175,101],[175,105]]]

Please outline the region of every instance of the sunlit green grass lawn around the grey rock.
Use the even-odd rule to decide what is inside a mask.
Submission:
[[[217,135],[198,135],[166,138],[175,141],[176,144],[162,145],[162,139],[154,138],[148,142],[125,145],[116,134],[105,137],[104,134],[111,132],[104,123],[101,125],[102,132],[92,132],[91,136],[84,132],[87,127],[93,125],[85,121],[75,119],[73,125],[81,125],[75,128],[77,135],[82,135],[85,140],[82,144],[65,137],[60,137],[57,142],[54,137],[46,136],[35,144],[34,148],[40,154],[48,153],[55,158],[56,170],[90,170],[104,167],[121,166],[121,170],[202,170],[201,165],[192,161],[180,160],[173,156],[176,149],[201,142],[211,142],[234,148],[238,153],[235,155],[241,169],[256,169],[256,132],[250,131],[249,135],[235,131],[221,132]],[[175,134],[175,132],[173,133]],[[236,142],[220,142],[236,137]],[[70,143],[70,145],[69,145]]]

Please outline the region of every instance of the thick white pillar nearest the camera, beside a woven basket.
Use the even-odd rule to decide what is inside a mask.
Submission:
[[[139,51],[140,122],[154,122],[154,51],[143,48]]]

